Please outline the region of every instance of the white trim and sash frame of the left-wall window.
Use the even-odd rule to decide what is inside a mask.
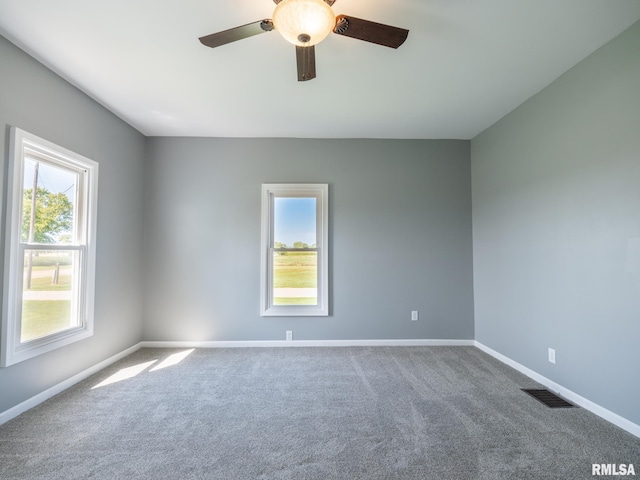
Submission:
[[[80,270],[81,324],[78,327],[22,343],[20,322],[22,309],[22,260],[25,246],[21,242],[22,231],[22,182],[25,154],[35,153],[42,158],[54,159],[54,163],[84,171],[80,182],[83,205],[78,200],[79,226],[83,229],[80,245],[34,245],[47,250],[77,250],[82,258]],[[93,335],[93,309],[95,296],[96,216],[98,200],[98,163],[47,140],[18,128],[11,128],[9,150],[8,189],[5,229],[5,271],[2,299],[2,341],[0,342],[0,366],[22,362],[45,352],[69,345]],[[82,208],[86,207],[84,210]],[[23,257],[22,257],[23,258]]]

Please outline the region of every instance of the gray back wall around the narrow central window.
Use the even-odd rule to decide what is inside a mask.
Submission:
[[[146,340],[473,338],[468,141],[151,138],[146,171]],[[329,317],[259,316],[279,182],[329,183]]]

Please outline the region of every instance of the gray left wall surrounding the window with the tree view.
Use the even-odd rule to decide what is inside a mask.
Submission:
[[[4,269],[10,126],[22,128],[100,164],[95,334],[87,340],[0,368],[0,412],[134,345],[142,333],[145,138],[0,37],[0,270]]]

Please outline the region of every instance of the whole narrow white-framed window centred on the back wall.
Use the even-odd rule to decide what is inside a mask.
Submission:
[[[262,185],[262,316],[329,315],[329,185]]]

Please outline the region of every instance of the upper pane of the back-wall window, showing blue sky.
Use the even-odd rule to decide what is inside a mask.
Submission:
[[[273,205],[273,246],[316,246],[316,199],[276,197]]]

